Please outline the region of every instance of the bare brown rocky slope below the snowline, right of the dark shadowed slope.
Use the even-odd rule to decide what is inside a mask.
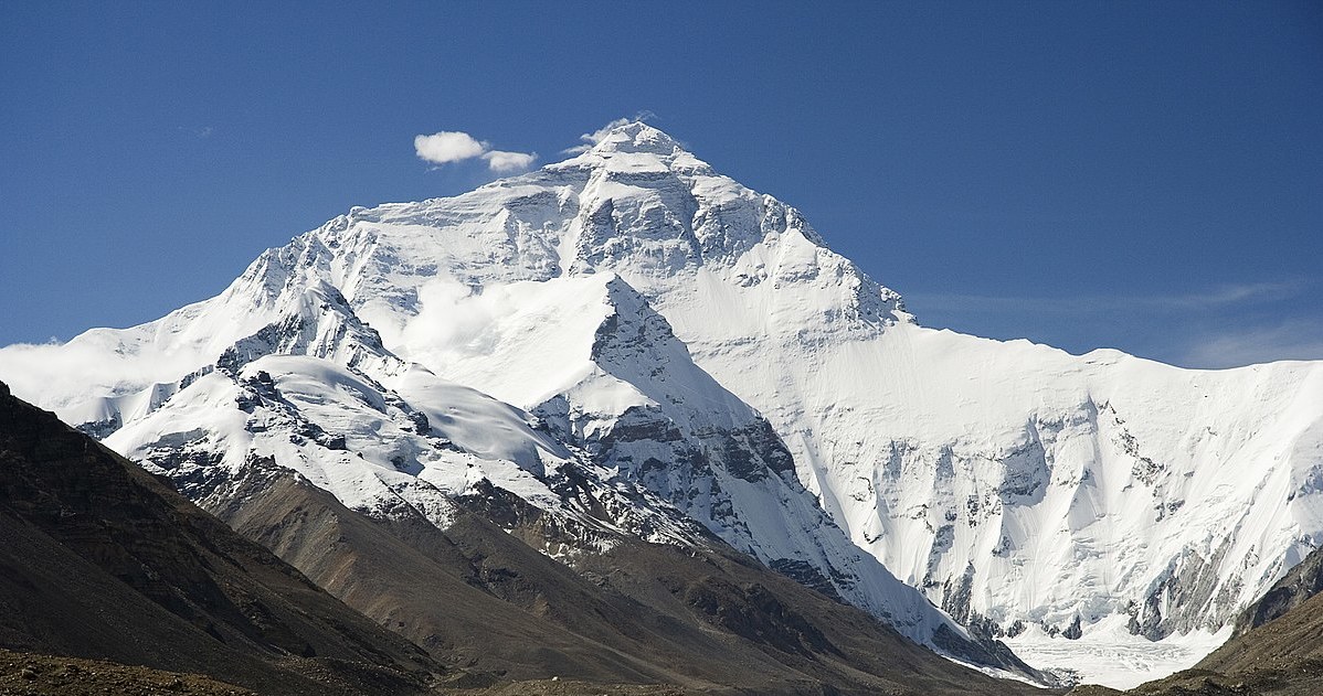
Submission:
[[[556,520],[513,495],[493,510],[501,499],[462,498],[442,532],[370,520],[286,477],[220,514],[475,675],[717,693],[1039,692],[937,658],[729,549],[617,536],[572,569],[533,548]]]

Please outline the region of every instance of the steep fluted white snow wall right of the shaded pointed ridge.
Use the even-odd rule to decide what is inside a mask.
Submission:
[[[1318,365],[1187,371],[912,325],[758,359],[689,338],[861,548],[994,633],[1217,630],[1323,530]]]

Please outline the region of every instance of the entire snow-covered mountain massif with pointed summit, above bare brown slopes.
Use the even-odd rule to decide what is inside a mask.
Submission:
[[[212,300],[0,350],[0,378],[213,508],[275,466],[443,531],[493,487],[574,530],[544,548],[572,567],[710,534],[994,664],[986,638],[1216,631],[1323,534],[1319,363],[925,329],[639,123],[355,207]]]

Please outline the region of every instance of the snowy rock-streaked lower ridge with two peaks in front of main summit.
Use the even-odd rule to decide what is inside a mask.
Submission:
[[[328,280],[331,248],[360,258],[347,244],[302,240],[263,255],[212,301],[79,337],[66,347],[95,371],[93,396],[56,405],[61,395],[44,390],[48,403],[208,508],[266,460],[355,510],[415,508],[442,530],[454,495],[491,482],[564,523],[681,545],[710,531],[916,641],[1021,670],[859,552],[795,478],[766,420],[693,365],[618,276],[512,288],[527,297],[501,329],[508,341],[464,363],[474,374],[443,379],[386,349]],[[353,263],[396,273],[400,259]],[[126,367],[148,379],[124,382]],[[490,391],[491,378],[537,390],[524,401],[532,415],[471,388]],[[577,489],[591,506],[566,499]]]

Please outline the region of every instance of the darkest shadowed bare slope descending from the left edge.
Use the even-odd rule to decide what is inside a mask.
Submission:
[[[441,670],[3,384],[0,643],[269,693],[413,693]]]

